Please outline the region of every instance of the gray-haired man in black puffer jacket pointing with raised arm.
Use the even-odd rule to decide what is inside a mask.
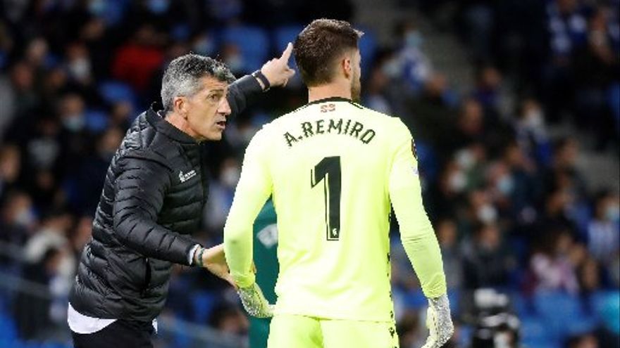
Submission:
[[[209,192],[201,144],[220,140],[227,118],[262,91],[286,84],[291,51],[289,44],[236,81],[209,57],[186,54],[168,65],[163,110],[137,117],[106,173],[69,296],[76,348],[153,347],[173,264],[202,266],[232,283],[222,245],[206,249],[189,236]]]

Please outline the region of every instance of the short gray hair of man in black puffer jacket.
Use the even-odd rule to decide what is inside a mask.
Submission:
[[[215,77],[222,82],[235,81],[230,69],[213,58],[188,53],[171,61],[161,79],[163,110],[171,112],[177,96],[189,97],[197,94],[202,88],[200,79],[205,76]]]

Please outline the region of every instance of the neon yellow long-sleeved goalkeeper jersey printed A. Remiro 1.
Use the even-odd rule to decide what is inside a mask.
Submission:
[[[393,321],[390,203],[423,291],[444,294],[413,144],[398,118],[344,98],[315,101],[266,124],[247,147],[224,229],[237,284],[254,283],[252,221],[273,195],[276,315]]]

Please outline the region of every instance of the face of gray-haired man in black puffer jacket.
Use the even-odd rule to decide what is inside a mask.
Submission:
[[[214,77],[203,77],[200,82],[202,89],[187,98],[187,124],[199,141],[221,140],[230,115],[228,83]]]

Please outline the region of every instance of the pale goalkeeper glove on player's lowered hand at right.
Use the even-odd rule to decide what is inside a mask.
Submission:
[[[428,339],[422,348],[439,348],[450,340],[454,333],[454,325],[452,316],[450,316],[450,302],[447,295],[428,299],[426,326],[428,327]]]

